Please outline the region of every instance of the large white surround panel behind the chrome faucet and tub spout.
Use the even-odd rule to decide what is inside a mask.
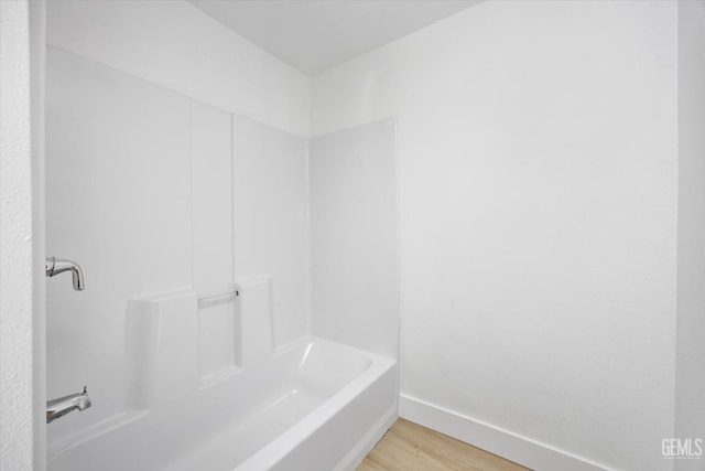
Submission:
[[[50,47],[46,253],[86,290],[47,279],[47,395],[88,387],[94,407],[52,437],[123,408],[127,302],[192,283],[188,99]]]

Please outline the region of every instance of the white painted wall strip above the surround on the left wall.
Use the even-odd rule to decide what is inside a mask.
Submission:
[[[198,101],[308,133],[308,78],[186,1],[52,1],[47,42]]]

